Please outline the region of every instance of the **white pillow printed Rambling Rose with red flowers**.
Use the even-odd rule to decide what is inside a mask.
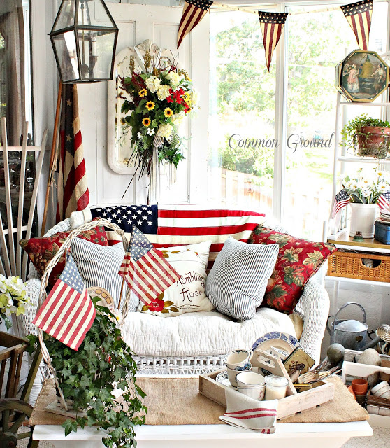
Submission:
[[[159,248],[168,263],[182,277],[163,294],[159,295],[155,304],[161,311],[150,311],[149,305],[140,302],[138,311],[156,316],[180,316],[184,313],[212,311],[210,300],[205,295],[206,267],[211,241],[204,241],[189,246]],[[163,304],[164,302],[164,304]]]

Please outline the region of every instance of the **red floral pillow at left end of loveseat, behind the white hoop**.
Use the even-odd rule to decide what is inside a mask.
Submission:
[[[38,272],[43,275],[48,262],[54,258],[59,248],[64,244],[66,237],[71,232],[55,233],[51,237],[21,239],[19,241],[20,247],[29,255],[29,259],[36,267]],[[91,230],[86,230],[78,235],[78,238],[87,239],[92,243],[99,244],[99,246],[108,246],[108,239],[106,230],[100,225]],[[57,265],[53,267],[49,276],[48,286],[52,288],[55,285],[58,277],[62,274],[65,267],[65,255],[59,258]]]

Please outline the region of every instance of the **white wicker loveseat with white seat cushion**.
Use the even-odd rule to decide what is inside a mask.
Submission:
[[[265,224],[284,231],[280,225]],[[71,228],[72,221],[68,218],[45,236]],[[40,288],[40,274],[30,265],[27,294],[31,297],[31,306],[22,318],[26,334],[36,332],[31,321],[36,314]],[[329,311],[321,270],[305,284],[296,311],[303,316],[301,345],[318,363]],[[259,309],[255,319],[244,322],[233,321],[217,311],[168,318],[134,311],[127,315],[122,335],[136,353],[140,374],[201,374],[219,370],[224,365],[226,353],[232,349],[250,348],[258,337],[270,331],[295,335],[289,316],[267,308]]]

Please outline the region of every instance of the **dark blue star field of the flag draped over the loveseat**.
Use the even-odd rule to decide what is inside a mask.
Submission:
[[[113,224],[117,224],[130,239],[131,229],[138,228],[141,232],[150,234],[157,233],[158,209],[157,205],[113,205],[110,207],[96,207],[90,209],[92,219],[105,218]],[[108,240],[118,239],[116,232],[106,228]]]

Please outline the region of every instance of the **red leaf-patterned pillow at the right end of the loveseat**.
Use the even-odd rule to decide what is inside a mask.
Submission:
[[[294,311],[306,281],[336,250],[331,244],[291,237],[262,225],[252,232],[250,243],[279,244],[279,255],[268,280],[263,303],[287,314]]]

